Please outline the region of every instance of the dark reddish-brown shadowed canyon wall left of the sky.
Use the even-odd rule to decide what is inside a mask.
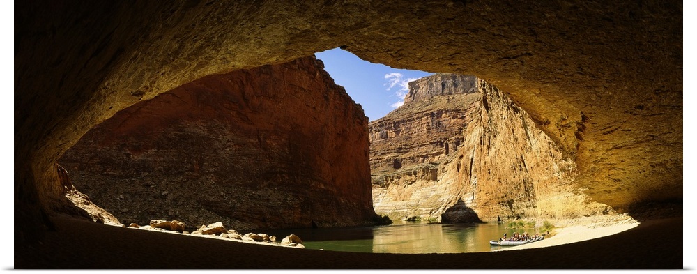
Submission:
[[[371,224],[367,118],[314,56],[210,75],[95,126],[59,160],[124,224]]]

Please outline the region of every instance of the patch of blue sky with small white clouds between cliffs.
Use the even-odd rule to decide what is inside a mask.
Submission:
[[[363,107],[368,121],[380,119],[399,107],[409,91],[408,82],[433,74],[370,63],[339,48],[315,56],[324,62],[324,69],[334,82],[344,86],[348,95]]]

